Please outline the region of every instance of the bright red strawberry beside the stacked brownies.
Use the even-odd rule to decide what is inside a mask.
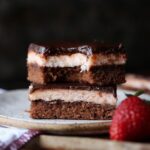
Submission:
[[[121,141],[150,139],[150,105],[136,96],[125,99],[114,113],[110,138]]]

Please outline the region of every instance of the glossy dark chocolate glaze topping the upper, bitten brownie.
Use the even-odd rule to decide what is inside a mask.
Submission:
[[[83,53],[92,55],[93,53],[125,53],[122,44],[106,45],[102,42],[59,42],[52,44],[33,44],[29,45],[29,51],[34,51],[45,56],[70,55],[73,53]]]

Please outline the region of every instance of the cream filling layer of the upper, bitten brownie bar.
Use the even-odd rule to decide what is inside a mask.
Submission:
[[[36,63],[41,67],[80,66],[81,71],[88,71],[91,66],[122,65],[126,63],[126,59],[123,54],[94,54],[88,57],[81,53],[75,53],[72,55],[49,56],[45,58],[43,54],[37,54],[33,51],[29,52],[27,61],[28,64]]]

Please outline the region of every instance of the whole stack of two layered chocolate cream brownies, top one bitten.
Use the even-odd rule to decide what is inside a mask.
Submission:
[[[125,82],[121,44],[30,44],[30,115],[37,119],[111,119],[116,86]]]

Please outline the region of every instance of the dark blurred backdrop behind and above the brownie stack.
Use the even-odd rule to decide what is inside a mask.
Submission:
[[[0,87],[27,87],[30,42],[122,42],[127,72],[150,73],[150,4],[144,0],[0,0]]]

